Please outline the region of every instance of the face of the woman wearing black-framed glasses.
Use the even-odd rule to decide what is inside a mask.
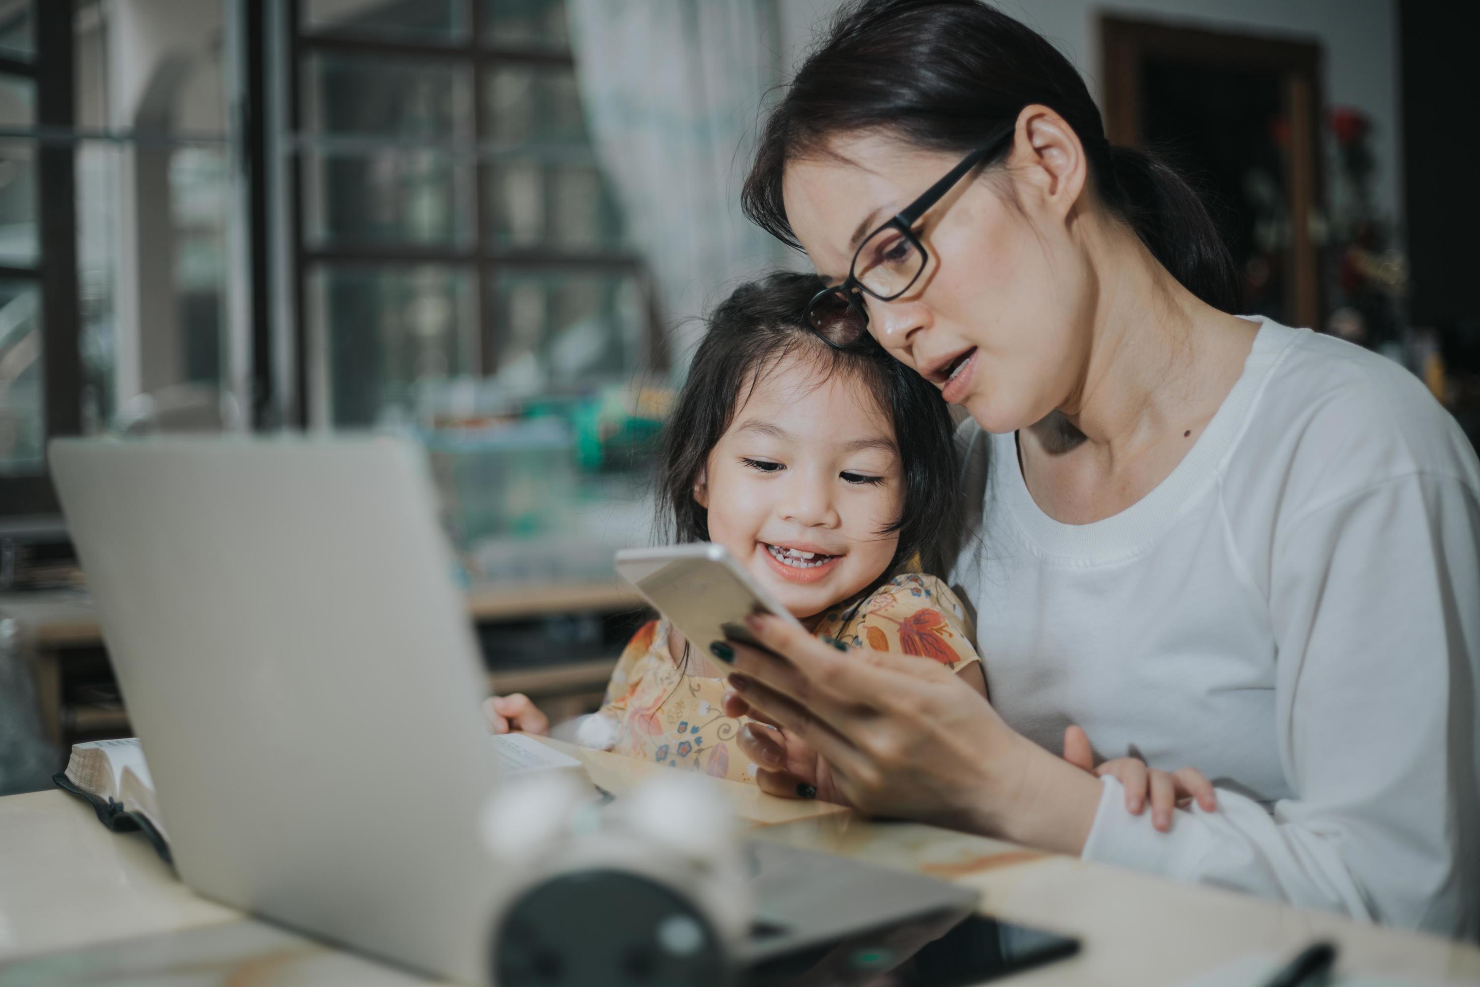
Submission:
[[[783,192],[813,265],[839,284],[858,240],[959,155],[879,135],[839,138],[830,149],[790,163]],[[1072,401],[1088,358],[1092,278],[1073,216],[1042,178],[999,167],[958,183],[916,225],[929,255],[919,280],[892,302],[867,299],[869,331],[989,432],[1026,428]]]

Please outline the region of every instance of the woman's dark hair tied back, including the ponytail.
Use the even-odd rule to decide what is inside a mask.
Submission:
[[[1042,104],[1074,129],[1100,200],[1188,292],[1225,312],[1242,299],[1228,247],[1197,194],[1147,151],[1110,146],[1079,71],[1032,28],[978,0],[858,0],[833,19],[761,133],[741,201],[799,246],[786,220],[786,164],[858,130],[966,154],[993,126]]]

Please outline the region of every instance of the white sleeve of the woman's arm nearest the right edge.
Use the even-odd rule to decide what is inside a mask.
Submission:
[[[1413,474],[1320,505],[1271,559],[1294,798],[1218,790],[1172,832],[1107,778],[1083,857],[1406,928],[1480,932],[1480,505]],[[1196,765],[1191,765],[1196,767]]]

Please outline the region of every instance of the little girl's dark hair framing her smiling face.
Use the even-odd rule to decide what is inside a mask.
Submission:
[[[955,428],[940,392],[872,337],[833,349],[802,317],[823,283],[813,274],[777,272],[741,284],[709,317],[688,380],[665,428],[657,469],[659,527],[676,542],[707,542],[709,512],[694,482],[759,377],[780,361],[815,363],[818,382],[857,374],[894,426],[904,474],[904,508],[881,534],[898,533],[889,564],[897,573],[919,552],[928,573],[943,570],[961,519]]]

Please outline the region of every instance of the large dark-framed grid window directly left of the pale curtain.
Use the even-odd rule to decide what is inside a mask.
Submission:
[[[562,0],[289,0],[302,417],[623,379],[651,317]]]

